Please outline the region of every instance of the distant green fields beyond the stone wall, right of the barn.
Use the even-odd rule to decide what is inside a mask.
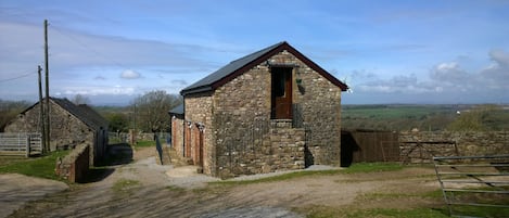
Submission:
[[[480,105],[343,105],[342,127],[344,129],[380,130],[443,130],[455,121],[460,114],[468,113]],[[509,129],[509,110],[491,111],[482,115],[487,130]],[[460,112],[460,114],[458,114]]]

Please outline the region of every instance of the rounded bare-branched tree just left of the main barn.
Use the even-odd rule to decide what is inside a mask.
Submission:
[[[143,131],[169,131],[171,120],[168,111],[179,104],[182,99],[166,91],[150,91],[135,99],[131,104],[135,112],[137,129]]]

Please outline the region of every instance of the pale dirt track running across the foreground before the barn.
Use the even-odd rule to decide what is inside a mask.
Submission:
[[[72,185],[67,191],[26,204],[11,217],[305,217],[306,208],[315,206],[432,205],[436,202],[422,197],[380,201],[370,194],[403,193],[411,197],[412,193],[438,189],[434,171],[428,168],[179,188],[166,175],[174,170],[171,166],[155,165],[154,156],[153,148],[139,150],[133,155],[135,163],[113,166],[103,180]]]

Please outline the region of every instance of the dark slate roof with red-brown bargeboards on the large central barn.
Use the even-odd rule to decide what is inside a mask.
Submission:
[[[215,90],[218,87],[225,85],[226,82],[238,77],[239,75],[251,69],[252,67],[260,64],[262,62],[267,61],[270,56],[283,50],[287,50],[288,52],[295,55],[307,66],[311,67],[314,70],[318,72],[320,75],[329,79],[332,84],[340,87],[341,90],[346,91],[348,89],[345,84],[341,82],[330,73],[315,64],[315,62],[304,56],[301,52],[291,47],[287,41],[282,41],[230,62],[226,66],[219,68],[218,70],[212,73],[203,79],[182,89],[182,91],[180,91],[180,94],[186,95]]]

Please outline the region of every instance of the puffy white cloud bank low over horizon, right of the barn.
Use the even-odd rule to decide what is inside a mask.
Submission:
[[[492,50],[488,55],[493,63],[481,70],[467,70],[459,62],[443,62],[434,65],[429,73],[429,79],[413,74],[396,75],[383,78],[377,73],[354,70],[352,78],[356,82],[352,89],[362,94],[425,94],[430,102],[434,99],[448,101],[487,101],[507,102],[509,91],[509,54],[502,50]],[[420,99],[419,99],[420,100]]]

